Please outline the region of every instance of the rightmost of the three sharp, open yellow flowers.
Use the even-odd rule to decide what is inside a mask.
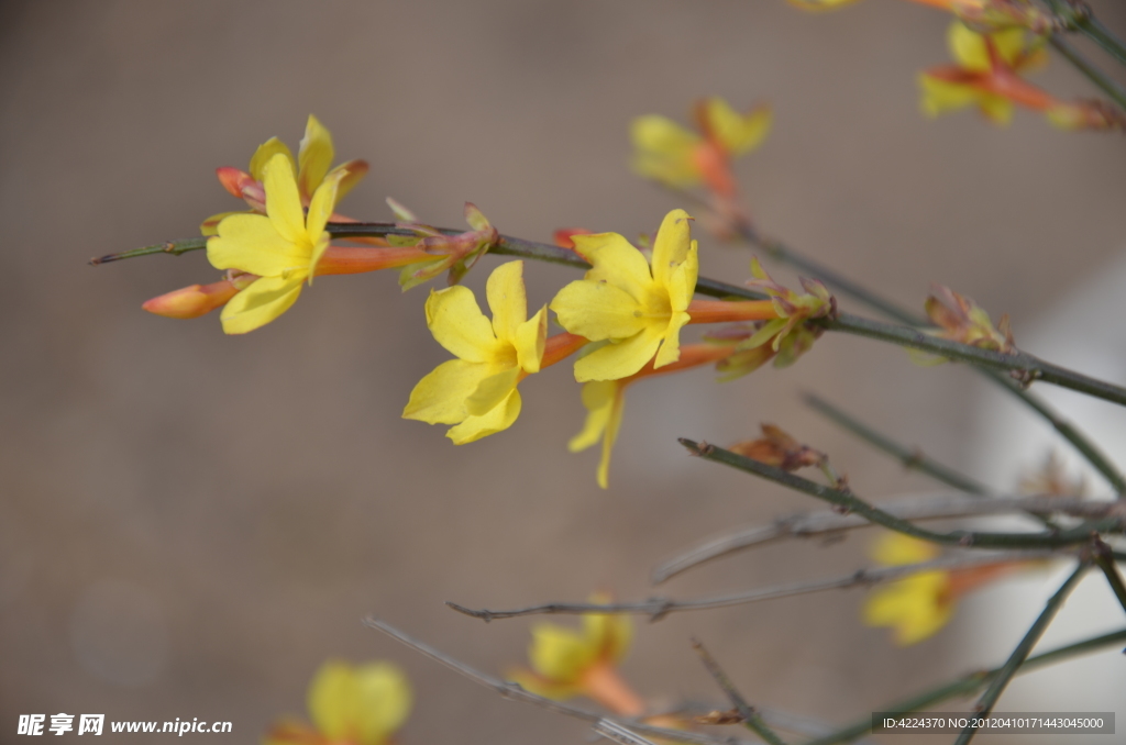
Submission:
[[[551,308],[569,332],[609,343],[574,363],[580,383],[616,380],[654,359],[660,368],[680,357],[680,329],[699,269],[683,209],[673,209],[653,243],[652,269],[617,233],[575,235],[577,250],[593,264],[586,278],[555,296]]]

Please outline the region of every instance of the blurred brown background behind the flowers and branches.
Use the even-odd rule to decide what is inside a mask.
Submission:
[[[1126,26],[1121,6],[1093,5]],[[86,266],[238,209],[214,168],[245,168],[271,135],[296,146],[310,113],[340,159],[372,164],[343,203],[355,216],[387,218],[394,195],[440,225],[472,200],[529,239],[635,235],[679,205],[631,174],[631,118],[683,119],[718,93],[775,107],[739,165],[766,231],[917,307],[929,281],[950,285],[1009,312],[1019,342],[1024,321],[1126,246],[1126,152],[1026,114],[1008,131],[923,119],[914,77],[946,61],[947,23],[892,0],[819,16],[780,0],[0,5],[0,742],[19,713],[59,711],[231,720],[253,742],[303,713],[328,657],[405,667],[406,745],[582,742],[581,722],[508,703],[360,618],[500,672],[529,623],[485,626],[444,601],[647,596],[676,549],[817,506],[688,458],[677,436],[731,442],[776,422],[861,495],[932,487],[804,409],[803,391],[973,463],[973,376],[830,336],[786,371],[636,386],[602,492],[597,454],[565,450],[583,412],[564,366],[521,386],[520,421],[485,441],[455,448],[399,419],[446,353],[426,290],[402,295],[393,272],[319,281],[278,322],[225,338],[214,315],[140,309],[213,281],[202,253]],[[1093,93],[1058,63],[1037,80]],[[704,275],[745,278],[744,249],[700,237]],[[527,273],[534,303],[574,276]],[[866,541],[768,548],[660,592],[837,574],[865,563]],[[863,600],[642,623],[625,672],[654,700],[720,702],[695,635],[752,702],[829,721],[963,672],[947,658],[972,629],[899,649],[860,625]]]

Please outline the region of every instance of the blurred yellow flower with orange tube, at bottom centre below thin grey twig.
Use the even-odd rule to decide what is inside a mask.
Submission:
[[[609,602],[605,594],[592,603]],[[629,650],[633,621],[627,616],[586,613],[581,629],[537,623],[531,629],[528,662],[510,677],[533,693],[562,701],[586,695],[623,716],[637,716],[644,704],[620,679],[616,666]]]

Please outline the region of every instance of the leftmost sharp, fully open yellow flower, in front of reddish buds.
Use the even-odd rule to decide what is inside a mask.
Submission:
[[[225,217],[218,234],[207,241],[207,260],[213,267],[259,277],[223,308],[223,331],[241,334],[269,323],[296,302],[302,282],[307,279],[312,284],[316,263],[329,248],[324,225],[342,178],[337,171],[321,182],[306,217],[285,154],[275,153],[262,167],[266,215]]]

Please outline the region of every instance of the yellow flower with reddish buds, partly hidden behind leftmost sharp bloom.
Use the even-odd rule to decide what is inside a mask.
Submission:
[[[309,205],[312,201],[313,195],[321,183],[334,180],[337,191],[332,207],[336,208],[336,203],[351,191],[368,170],[367,162],[363,160],[351,160],[331,168],[332,159],[336,158],[332,133],[315,116],[310,114],[309,120],[305,123],[305,136],[301,138],[301,145],[297,149],[296,161],[288,145],[277,137],[270,137],[254,151],[250,159],[249,172],[224,165],[216,169],[215,173],[223,188],[245,201],[250,212],[265,214],[266,165],[275,155],[284,155],[289,161],[291,168],[297,170],[297,192],[303,205]],[[240,213],[227,212],[212,215],[204,221],[199,230],[204,235],[215,235],[215,231],[224,217],[238,214]]]

